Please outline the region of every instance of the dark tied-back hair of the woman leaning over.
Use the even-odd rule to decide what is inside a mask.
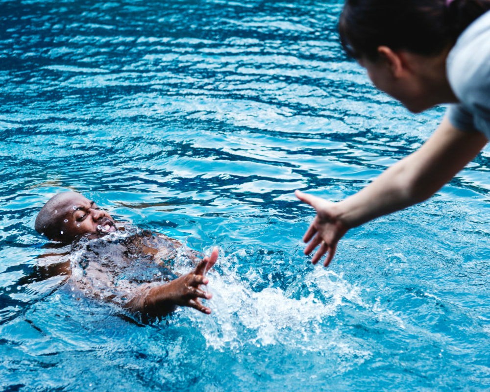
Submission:
[[[488,10],[490,0],[346,0],[340,38],[349,56],[372,61],[380,45],[437,54]]]

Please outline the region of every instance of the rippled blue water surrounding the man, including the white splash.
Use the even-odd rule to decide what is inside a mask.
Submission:
[[[490,154],[351,230],[331,267],[294,189],[340,200],[430,135],[343,55],[341,1],[0,1],[0,389],[490,388]],[[23,283],[76,190],[221,256],[213,310],[150,325]]]

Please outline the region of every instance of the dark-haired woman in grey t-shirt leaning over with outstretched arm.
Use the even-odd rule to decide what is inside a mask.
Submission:
[[[347,0],[343,48],[373,84],[417,113],[450,103],[434,134],[366,188],[337,203],[296,191],[317,216],[303,240],[331,262],[348,229],[421,202],[490,138],[490,0]]]

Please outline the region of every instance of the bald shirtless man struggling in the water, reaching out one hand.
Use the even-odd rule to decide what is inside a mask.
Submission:
[[[76,192],[51,197],[39,211],[35,229],[60,245],[71,244],[69,252],[65,248],[64,253],[45,255],[45,266],[38,269],[67,275],[73,290],[139,313],[142,319],[166,315],[177,305],[211,313],[200,300],[211,298],[202,286],[218,259],[216,247],[194,270],[176,277],[171,269],[175,260],[196,262],[196,251],[163,234],[117,225],[94,201]]]

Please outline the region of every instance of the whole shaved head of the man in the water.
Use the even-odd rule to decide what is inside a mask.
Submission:
[[[63,192],[51,197],[36,217],[34,227],[50,240],[71,242],[87,233],[116,231],[112,217],[94,201],[76,192]]]

